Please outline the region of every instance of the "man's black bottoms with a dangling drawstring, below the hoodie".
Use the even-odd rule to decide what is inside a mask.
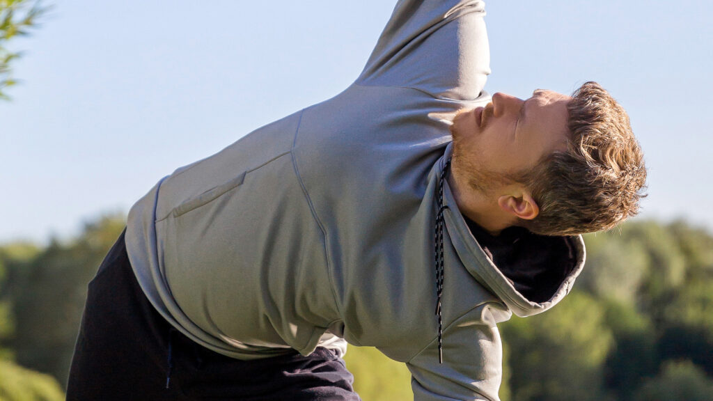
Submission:
[[[122,233],[89,283],[67,400],[359,400],[336,352],[243,361],[175,330],[139,287]]]

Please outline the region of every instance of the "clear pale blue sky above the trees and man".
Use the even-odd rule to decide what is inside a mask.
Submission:
[[[0,243],[71,238],[175,168],[330,98],[394,1],[58,0],[10,48],[0,102]],[[645,153],[641,218],[713,231],[713,2],[488,1],[486,90],[597,81]]]

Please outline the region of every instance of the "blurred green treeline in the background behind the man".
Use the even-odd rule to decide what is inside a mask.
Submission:
[[[0,245],[0,401],[63,399],[86,285],[123,224],[108,216],[73,240]],[[713,401],[712,235],[637,221],[585,241],[575,290],[501,325],[502,400]],[[365,401],[412,399],[404,365],[373,348],[346,359]]]

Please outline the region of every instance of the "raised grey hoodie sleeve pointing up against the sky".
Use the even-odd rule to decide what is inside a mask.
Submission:
[[[483,1],[399,1],[356,83],[476,100],[490,73],[483,16]]]

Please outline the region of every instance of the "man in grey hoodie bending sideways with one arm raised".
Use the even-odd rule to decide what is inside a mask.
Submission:
[[[68,399],[358,400],[349,342],[405,362],[416,400],[498,400],[496,324],[568,293],[579,234],[636,213],[645,168],[596,83],[484,92],[484,14],[399,1],[352,86],[139,200]]]

